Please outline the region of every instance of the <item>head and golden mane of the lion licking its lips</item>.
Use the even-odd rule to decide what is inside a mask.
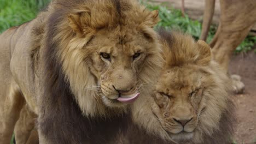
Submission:
[[[154,80],[161,65],[158,11],[128,0],[54,1],[51,10],[49,45],[83,113],[125,110]]]

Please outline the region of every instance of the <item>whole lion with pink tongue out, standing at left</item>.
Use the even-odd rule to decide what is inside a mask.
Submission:
[[[2,33],[0,143],[10,142],[25,105],[39,143],[113,140],[161,68],[158,21],[135,0],[55,0]]]

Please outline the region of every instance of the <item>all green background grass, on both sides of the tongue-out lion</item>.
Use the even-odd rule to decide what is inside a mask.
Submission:
[[[167,29],[178,29],[193,35],[195,39],[200,37],[202,28],[201,22],[191,20],[187,15],[183,17],[181,10],[170,7],[167,8],[164,3],[161,5],[154,5],[142,0],[140,1],[150,10],[159,10],[161,21],[156,28],[164,27]],[[0,33],[9,27],[18,26],[34,19],[38,12],[45,8],[49,2],[50,0],[0,0]],[[217,26],[212,25],[207,38],[208,43],[213,38],[216,30]],[[237,47],[236,52],[250,51],[255,43],[256,37],[249,35]]]

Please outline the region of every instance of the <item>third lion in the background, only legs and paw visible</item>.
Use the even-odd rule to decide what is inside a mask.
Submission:
[[[228,73],[228,66],[236,47],[246,38],[256,23],[256,3],[254,0],[219,1],[220,20],[213,40],[210,43],[214,59]],[[206,40],[214,14],[215,0],[205,1],[202,33],[200,39]],[[239,10],[237,10],[239,9]],[[238,75],[231,75],[233,91],[243,93],[245,85]]]

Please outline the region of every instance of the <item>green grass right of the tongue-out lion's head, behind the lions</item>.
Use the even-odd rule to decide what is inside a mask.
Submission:
[[[188,15],[182,16],[182,12],[179,9],[168,8],[165,3],[160,5],[154,5],[146,2],[141,2],[147,6],[150,10],[159,10],[159,17],[161,21],[158,23],[156,28],[164,27],[166,29],[176,29],[188,34],[193,35],[197,40],[200,37],[202,23],[196,20],[191,20]],[[208,33],[207,43],[213,39],[216,33],[217,26],[212,25],[210,27],[210,32]],[[252,50],[252,47],[256,44],[256,37],[248,35],[245,40],[236,48],[235,53],[248,52]],[[256,49],[254,49],[256,53]]]

